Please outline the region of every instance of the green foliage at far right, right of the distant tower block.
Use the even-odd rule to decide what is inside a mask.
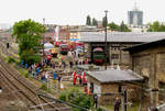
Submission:
[[[165,24],[155,21],[153,23],[148,23],[150,29],[148,32],[165,32]]]

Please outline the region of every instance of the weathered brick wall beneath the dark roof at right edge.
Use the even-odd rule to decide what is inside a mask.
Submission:
[[[132,70],[148,78],[148,82],[145,85],[147,90],[158,88],[158,82],[165,82],[164,46],[157,46],[134,53],[131,55],[131,58]],[[147,95],[150,96],[151,104],[158,104],[158,92],[150,91]]]

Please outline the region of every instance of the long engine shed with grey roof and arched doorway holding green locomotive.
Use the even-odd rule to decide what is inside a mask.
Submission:
[[[100,32],[81,32],[80,41],[85,43],[86,56],[94,58],[92,51],[96,47],[101,47],[105,52],[108,52],[109,64],[129,65],[130,55],[129,52],[122,51],[122,48],[131,47],[133,45],[147,43],[156,40],[165,38],[164,32],[112,32],[107,34],[108,49],[105,46],[105,33]]]

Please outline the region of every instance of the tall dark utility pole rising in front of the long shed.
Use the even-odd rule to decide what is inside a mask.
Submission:
[[[105,43],[106,43],[105,44],[106,45],[105,46],[105,58],[106,58],[105,60],[106,60],[106,66],[105,66],[105,70],[107,70],[107,22],[108,22],[107,21],[107,13],[108,13],[108,10],[106,10],[105,13],[106,13],[106,29],[105,29]]]

